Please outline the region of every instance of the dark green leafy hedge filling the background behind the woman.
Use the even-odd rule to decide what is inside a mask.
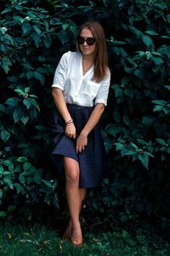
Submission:
[[[96,19],[105,28],[112,73],[101,122],[111,177],[90,192],[88,211],[122,221],[139,215],[166,220],[168,1],[2,1],[0,9],[1,216],[20,202],[58,205],[48,139],[50,85],[60,55],[75,49],[77,26]]]

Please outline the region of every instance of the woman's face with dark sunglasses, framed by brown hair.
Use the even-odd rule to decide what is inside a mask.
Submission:
[[[78,44],[81,49],[82,55],[94,55],[96,43],[94,42],[95,39],[92,32],[88,28],[83,28],[79,38],[80,40],[78,41]],[[89,43],[87,41],[84,41],[83,39],[88,39]],[[92,44],[92,45],[89,45],[89,44]]]

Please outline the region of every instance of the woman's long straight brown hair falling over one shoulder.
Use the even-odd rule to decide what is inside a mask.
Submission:
[[[99,82],[105,78],[108,71],[108,56],[105,45],[105,32],[103,27],[98,21],[87,21],[80,26],[77,33],[77,38],[80,36],[82,29],[88,28],[94,38],[96,39],[95,45],[95,59],[94,59],[94,79]],[[77,44],[77,50],[81,51],[79,44]]]

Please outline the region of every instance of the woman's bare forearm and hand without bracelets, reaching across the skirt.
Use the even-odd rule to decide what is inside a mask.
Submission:
[[[98,124],[102,113],[105,110],[105,105],[103,103],[98,103],[95,105],[93,112],[90,114],[87,124],[82,129],[79,137],[77,137],[76,150],[77,153],[81,153],[82,150],[88,145],[88,134],[92,131],[95,125]]]

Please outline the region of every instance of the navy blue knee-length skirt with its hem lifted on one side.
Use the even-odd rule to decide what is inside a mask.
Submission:
[[[75,104],[67,104],[71,118],[80,134],[86,125],[94,108],[80,107]],[[52,158],[58,174],[63,171],[63,156],[77,160],[80,167],[80,188],[99,187],[104,178],[108,177],[108,166],[105,154],[105,145],[99,125],[96,125],[88,134],[88,146],[77,154],[76,139],[65,136],[65,121],[57,109],[54,110],[53,118],[50,121],[51,141],[54,147]]]

